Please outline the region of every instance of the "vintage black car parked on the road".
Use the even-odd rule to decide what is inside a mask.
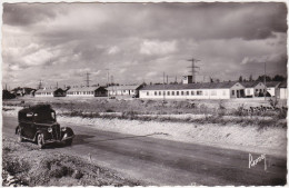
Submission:
[[[18,121],[16,133],[19,141],[34,141],[40,148],[52,142],[63,142],[67,146],[72,144],[73,130],[69,127],[60,128],[56,111],[50,105],[37,105],[20,110]]]

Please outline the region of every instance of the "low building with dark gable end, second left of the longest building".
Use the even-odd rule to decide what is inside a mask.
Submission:
[[[82,87],[70,88],[67,91],[68,97],[107,97],[108,91],[104,87]]]

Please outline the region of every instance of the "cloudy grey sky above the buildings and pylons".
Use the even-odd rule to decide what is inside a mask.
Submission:
[[[3,3],[2,83],[36,87],[287,73],[285,3]]]

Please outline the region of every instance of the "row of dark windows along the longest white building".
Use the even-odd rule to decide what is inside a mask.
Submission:
[[[147,96],[149,96],[150,92],[147,91]],[[197,91],[155,91],[151,92],[152,96],[208,96],[209,91],[202,91],[202,90],[197,90]],[[222,95],[226,96],[226,90],[222,91]],[[216,90],[210,91],[210,96],[217,96]]]

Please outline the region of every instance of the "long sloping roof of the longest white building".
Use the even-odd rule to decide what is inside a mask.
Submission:
[[[231,88],[238,81],[225,82],[205,82],[205,83],[188,83],[188,85],[149,85],[140,90],[180,90],[180,89],[226,89]]]

